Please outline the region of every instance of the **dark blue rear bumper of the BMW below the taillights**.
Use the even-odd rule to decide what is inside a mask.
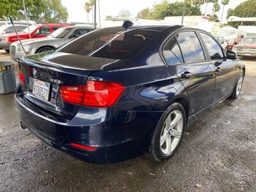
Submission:
[[[89,111],[89,116],[89,113],[86,115],[85,111],[79,111],[69,122],[61,122],[51,118],[53,115],[46,115],[45,111],[38,112],[42,109],[29,103],[19,93],[19,88],[15,101],[20,122],[40,140],[94,164],[117,163],[146,152],[150,135],[162,115],[161,112],[111,112],[105,109],[106,113],[101,114]],[[100,122],[95,123],[99,119]],[[97,150],[74,148],[70,143],[97,147]]]

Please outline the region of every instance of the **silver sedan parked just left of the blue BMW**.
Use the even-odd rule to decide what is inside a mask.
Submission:
[[[22,40],[22,45],[26,51],[26,54],[35,54],[39,52],[51,51],[63,44],[67,44],[71,40],[84,35],[90,31],[93,31],[93,26],[68,26],[57,29],[53,33],[47,36],[47,38],[36,38],[33,40]],[[22,50],[20,42],[13,42],[10,45],[10,56],[12,60],[17,61],[17,58],[24,56],[25,53]]]

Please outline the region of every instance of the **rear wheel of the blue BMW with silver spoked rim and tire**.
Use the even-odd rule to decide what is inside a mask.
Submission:
[[[176,121],[176,124],[175,121],[173,121],[175,118],[176,120],[179,119],[179,121]],[[175,124],[174,127],[171,128],[169,126],[170,122]],[[163,162],[170,159],[180,145],[185,127],[185,109],[180,103],[175,102],[168,109],[166,109],[166,111],[164,111],[157,124],[148,150],[150,157],[157,162]],[[164,138],[166,138],[166,140],[164,140]],[[162,144],[160,143],[161,140]]]

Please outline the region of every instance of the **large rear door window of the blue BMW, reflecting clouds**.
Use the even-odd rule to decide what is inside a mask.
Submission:
[[[186,31],[176,35],[185,63],[204,61],[204,52],[193,31]]]

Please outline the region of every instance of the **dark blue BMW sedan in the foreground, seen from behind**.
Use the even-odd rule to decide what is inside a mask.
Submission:
[[[200,113],[239,96],[244,64],[209,33],[125,23],[20,58],[22,128],[89,163],[162,162]]]

